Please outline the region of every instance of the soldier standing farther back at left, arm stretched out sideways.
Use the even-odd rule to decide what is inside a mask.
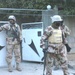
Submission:
[[[13,68],[11,65],[12,55],[14,52],[16,59],[16,70],[21,71],[20,62],[21,62],[21,54],[20,54],[20,42],[21,42],[21,30],[19,25],[16,23],[16,18],[14,15],[10,15],[8,17],[9,23],[0,27],[0,31],[5,30],[6,37],[6,61],[8,64],[8,71],[12,72]]]

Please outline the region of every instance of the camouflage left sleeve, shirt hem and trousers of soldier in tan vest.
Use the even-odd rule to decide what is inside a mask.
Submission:
[[[59,28],[60,29],[60,28]],[[45,41],[48,40],[48,37],[52,35],[52,26],[48,26],[41,38],[40,47],[45,49]],[[65,40],[64,40],[65,41]],[[56,47],[56,48],[55,48]],[[46,59],[46,75],[52,75],[52,66],[53,59],[57,59],[60,61],[60,66],[63,69],[64,75],[68,75],[68,60],[67,60],[67,51],[66,47],[63,43],[61,44],[53,44],[48,42],[47,49],[47,59]]]

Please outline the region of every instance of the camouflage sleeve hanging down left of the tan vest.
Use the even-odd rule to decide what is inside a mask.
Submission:
[[[44,31],[41,40],[40,40],[40,47],[42,49],[45,49],[45,42],[48,39],[48,36],[50,36],[50,34],[52,33],[52,29],[50,27],[46,28],[46,30]]]

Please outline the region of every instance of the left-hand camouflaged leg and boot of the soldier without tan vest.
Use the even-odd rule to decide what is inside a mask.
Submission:
[[[12,62],[12,54],[13,54],[13,50],[12,50],[13,46],[12,45],[7,45],[6,47],[6,51],[7,51],[7,55],[6,55],[6,61],[7,61],[7,64],[8,64],[8,71],[9,72],[12,72],[12,65],[11,65],[11,62]]]

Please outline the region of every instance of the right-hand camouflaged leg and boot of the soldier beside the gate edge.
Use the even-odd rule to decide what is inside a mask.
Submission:
[[[14,46],[14,55],[16,59],[16,70],[21,71],[20,62],[21,62],[21,53],[20,53],[20,45]]]

